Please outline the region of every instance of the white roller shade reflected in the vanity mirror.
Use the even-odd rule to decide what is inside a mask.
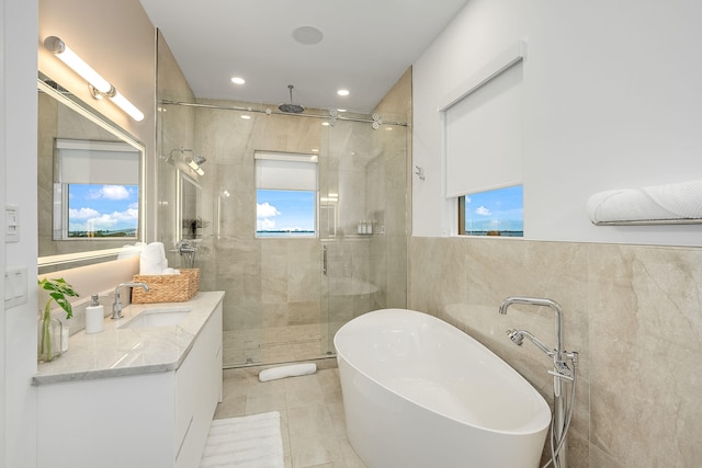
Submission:
[[[57,139],[61,184],[138,185],[140,153],[118,141]]]

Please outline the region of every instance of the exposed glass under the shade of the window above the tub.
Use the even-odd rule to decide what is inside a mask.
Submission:
[[[522,185],[464,195],[458,198],[458,233],[524,237]]]

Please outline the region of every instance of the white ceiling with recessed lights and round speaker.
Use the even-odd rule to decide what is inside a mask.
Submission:
[[[467,0],[140,2],[196,98],[370,112]]]

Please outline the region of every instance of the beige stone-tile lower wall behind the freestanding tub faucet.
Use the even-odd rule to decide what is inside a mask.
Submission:
[[[551,345],[553,313],[497,309],[514,295],[563,306],[564,345],[579,352],[570,467],[702,464],[702,249],[411,238],[409,259],[410,308],[467,331],[547,401],[548,359],[503,331]]]

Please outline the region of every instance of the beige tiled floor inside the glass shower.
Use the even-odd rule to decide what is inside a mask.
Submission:
[[[322,330],[324,329],[324,330]],[[327,324],[224,330],[224,367],[290,363],[329,357]],[[336,331],[336,329],[332,329]]]

